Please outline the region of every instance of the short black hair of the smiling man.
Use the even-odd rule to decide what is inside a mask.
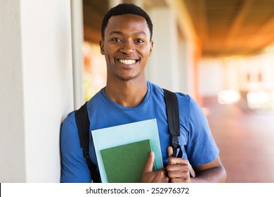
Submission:
[[[148,23],[148,29],[150,30],[150,41],[152,40],[152,21],[150,19],[150,16],[148,13],[143,11],[142,8],[134,5],[134,4],[119,4],[118,6],[115,6],[111,8],[103,18],[103,23],[101,26],[101,36],[104,39],[105,38],[105,27],[107,27],[108,20],[110,20],[110,17],[113,15],[124,15],[124,14],[133,14],[133,15],[140,15],[143,18],[145,18],[146,22]]]

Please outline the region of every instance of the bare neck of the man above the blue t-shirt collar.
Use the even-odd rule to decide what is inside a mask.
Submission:
[[[138,106],[148,91],[146,80],[107,82],[105,94],[115,103],[124,107]]]

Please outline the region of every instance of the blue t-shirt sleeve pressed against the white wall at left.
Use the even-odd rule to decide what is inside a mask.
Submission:
[[[67,115],[60,133],[60,182],[91,182],[91,174],[80,147],[74,112]]]

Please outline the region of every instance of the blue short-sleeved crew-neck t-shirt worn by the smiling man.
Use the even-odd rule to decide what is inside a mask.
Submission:
[[[167,165],[167,147],[170,136],[162,88],[150,82],[143,101],[136,107],[126,108],[113,102],[101,89],[87,103],[90,130],[123,125],[141,120],[156,119],[164,165]],[[203,165],[216,159],[218,147],[202,109],[188,95],[176,93],[178,98],[180,130],[179,144],[183,158],[193,166]],[[60,135],[62,159],[61,182],[91,182],[91,174],[80,148],[74,112],[65,118]],[[91,161],[97,165],[93,141],[90,141]]]

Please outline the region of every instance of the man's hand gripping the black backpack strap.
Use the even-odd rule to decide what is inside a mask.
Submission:
[[[171,183],[190,183],[188,161],[184,158],[174,158],[172,147],[167,148],[167,174]]]

